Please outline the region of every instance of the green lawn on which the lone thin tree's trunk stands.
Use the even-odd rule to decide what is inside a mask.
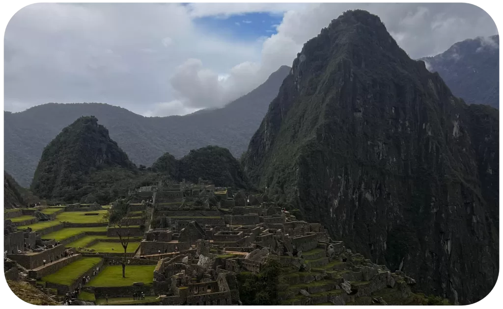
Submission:
[[[122,277],[122,266],[106,266],[94,277],[89,286],[128,286],[134,282],[151,284],[154,279],[154,269],[156,265],[128,265],[126,266],[126,278]],[[110,300],[109,300],[110,301]]]

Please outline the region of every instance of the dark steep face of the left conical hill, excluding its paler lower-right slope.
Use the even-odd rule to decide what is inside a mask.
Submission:
[[[98,119],[81,117],[45,147],[31,188],[45,198],[65,196],[85,186],[93,171],[114,167],[135,168]]]

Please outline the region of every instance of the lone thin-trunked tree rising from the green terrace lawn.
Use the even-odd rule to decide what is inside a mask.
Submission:
[[[109,226],[115,228],[115,233],[119,237],[122,248],[124,248],[124,256],[122,258],[122,277],[126,277],[126,252],[129,245],[130,229],[129,222],[131,219],[130,200],[117,199],[112,207],[105,214],[104,219],[108,220]]]

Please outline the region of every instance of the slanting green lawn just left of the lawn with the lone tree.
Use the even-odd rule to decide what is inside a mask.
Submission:
[[[70,263],[58,271],[45,276],[42,281],[52,282],[62,285],[71,285],[75,280],[79,279],[86,271],[95,267],[100,263],[101,258],[80,258],[73,263]],[[153,276],[153,271],[152,271]],[[153,280],[153,279],[152,279]]]

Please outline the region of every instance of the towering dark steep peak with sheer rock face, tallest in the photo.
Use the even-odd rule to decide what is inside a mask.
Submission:
[[[242,163],[348,248],[474,303],[499,275],[499,124],[348,11],[304,44]]]

